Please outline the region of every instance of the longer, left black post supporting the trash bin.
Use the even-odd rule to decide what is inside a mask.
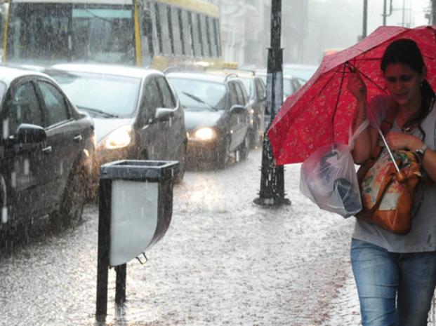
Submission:
[[[107,315],[111,189],[111,179],[100,179],[98,203],[97,300],[95,308],[95,318],[99,321],[104,321]]]

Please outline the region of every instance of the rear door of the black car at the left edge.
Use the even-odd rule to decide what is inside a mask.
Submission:
[[[62,200],[83,135],[80,125],[72,117],[65,95],[51,81],[38,79],[35,82],[43,103],[46,164],[51,167],[46,171],[48,193],[45,201],[47,206],[56,207]]]

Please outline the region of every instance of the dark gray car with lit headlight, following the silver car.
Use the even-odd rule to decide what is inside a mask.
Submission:
[[[167,78],[185,107],[188,158],[223,169],[230,156],[249,153],[249,100],[232,76],[171,72]]]

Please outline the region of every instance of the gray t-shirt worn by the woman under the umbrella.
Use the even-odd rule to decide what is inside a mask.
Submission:
[[[379,96],[371,100],[368,109],[374,112],[375,123],[380,123],[384,112],[390,107],[390,97]],[[432,150],[436,149],[436,105],[421,123],[425,131],[425,144]],[[370,116],[370,115],[369,115]],[[374,123],[374,121],[371,121]],[[391,128],[392,131],[401,132],[402,130],[395,121]],[[422,137],[418,129],[412,135]],[[385,149],[383,149],[385,150]],[[418,186],[418,191],[423,193],[423,201],[418,206],[418,211],[412,219],[412,228],[409,234],[402,236],[389,231],[385,231],[374,224],[356,219],[355,230],[352,238],[363,240],[374,245],[385,248],[389,252],[429,252],[436,251],[436,183],[425,186],[423,182]]]

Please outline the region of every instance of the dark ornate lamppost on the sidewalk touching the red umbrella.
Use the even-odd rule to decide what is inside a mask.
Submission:
[[[280,48],[282,29],[282,0],[272,0],[271,5],[271,47],[268,48],[267,62],[267,111],[270,111],[270,121],[274,120],[277,111],[283,104],[283,49]],[[270,140],[263,138],[262,166],[260,168],[259,197],[254,203],[265,206],[290,205],[291,201],[284,198],[284,167],[275,165],[272,156]]]

